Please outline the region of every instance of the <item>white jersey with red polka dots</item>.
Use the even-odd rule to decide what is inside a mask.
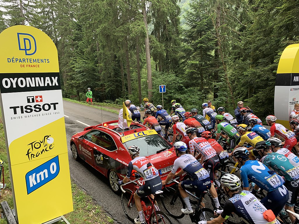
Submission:
[[[210,159],[217,155],[215,149],[210,145],[208,140],[205,138],[195,137],[194,139],[189,141],[190,152],[198,151],[204,159]]]

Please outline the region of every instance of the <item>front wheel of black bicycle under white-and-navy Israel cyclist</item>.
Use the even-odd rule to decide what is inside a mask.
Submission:
[[[186,208],[186,205],[178,191],[171,187],[166,187],[163,191],[163,195],[161,195],[161,202],[165,210],[171,217],[175,219],[181,219],[184,217],[184,213],[182,213],[181,209]]]

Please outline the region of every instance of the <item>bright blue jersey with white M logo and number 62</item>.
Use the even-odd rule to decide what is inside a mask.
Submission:
[[[274,191],[283,185],[284,180],[274,171],[270,171],[263,163],[257,160],[248,160],[240,168],[243,187],[248,188],[248,179],[251,179],[261,189],[268,192]]]

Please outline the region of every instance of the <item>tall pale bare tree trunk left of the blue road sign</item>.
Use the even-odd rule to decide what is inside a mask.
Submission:
[[[149,31],[147,29],[147,12],[145,8],[145,0],[141,1],[143,21],[146,29],[145,37],[145,57],[147,61],[147,85],[148,85],[148,98],[149,101],[152,99],[152,65],[150,62],[150,51],[149,51]]]

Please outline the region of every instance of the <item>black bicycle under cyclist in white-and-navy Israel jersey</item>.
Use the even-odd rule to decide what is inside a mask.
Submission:
[[[167,184],[170,184],[172,182],[179,183],[176,179],[171,180]],[[186,208],[186,205],[181,197],[181,194],[178,190],[178,185],[176,185],[176,189],[173,187],[165,187],[164,193],[161,195],[161,202],[165,210],[168,214],[170,214],[171,217],[176,219],[181,219],[185,216],[184,213],[182,213],[181,208]],[[205,191],[202,193],[199,197],[197,197],[195,194],[192,194],[190,191],[186,191],[190,198],[191,205],[194,205],[194,212],[189,214],[190,219],[193,223],[198,223],[199,221],[209,221],[212,220],[215,217],[214,211],[210,208],[204,208],[202,199],[204,198],[205,194],[208,192]],[[191,198],[195,199],[192,200]],[[200,203],[199,203],[200,202]]]

